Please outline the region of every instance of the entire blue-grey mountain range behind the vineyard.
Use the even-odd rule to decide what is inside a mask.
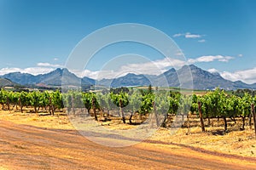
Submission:
[[[191,83],[189,77],[192,76],[194,89],[213,89],[216,87],[224,89],[237,89],[237,88],[253,88],[256,89],[256,83],[247,84],[245,82],[236,81],[231,82],[221,77],[217,72],[211,73],[204,71],[195,65],[184,65],[182,68],[175,70],[170,69],[159,76],[154,75],[136,75],[128,73],[124,77],[118,77],[113,79],[94,80],[89,77],[79,78],[75,74],[71,73],[67,69],[56,69],[46,74],[40,74],[33,76],[28,73],[12,72],[1,76],[0,82],[9,82],[13,84],[37,85],[37,86],[61,86],[73,85],[73,86],[87,86],[92,85],[106,86],[106,87],[133,87],[133,86],[153,86],[159,87],[183,87],[180,82]],[[187,82],[186,82],[187,81]],[[1,84],[0,84],[1,85]],[[185,86],[188,87],[188,86]]]

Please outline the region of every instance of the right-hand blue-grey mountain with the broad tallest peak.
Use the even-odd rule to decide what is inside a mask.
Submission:
[[[211,73],[209,71],[204,71],[195,65],[184,65],[177,71],[172,68],[159,76],[145,75],[143,77],[143,75],[129,73],[125,77],[102,79],[98,83],[108,87],[148,86],[148,84],[151,84],[159,87],[194,88],[204,90],[214,89],[216,87],[228,90],[237,88],[256,89],[256,83],[247,84],[241,81],[231,82],[221,77],[218,72]]]

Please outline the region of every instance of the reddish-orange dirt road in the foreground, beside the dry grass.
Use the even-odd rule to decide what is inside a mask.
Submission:
[[[0,121],[0,169],[256,169],[256,159],[157,142],[109,148],[74,130]]]

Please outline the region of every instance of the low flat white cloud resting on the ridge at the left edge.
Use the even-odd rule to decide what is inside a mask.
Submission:
[[[21,72],[21,73],[29,73],[32,75],[38,75],[38,74],[44,74],[44,73],[48,73],[50,71],[54,71],[53,68],[47,68],[47,67],[28,67],[25,69],[20,69],[20,68],[2,68],[0,70],[0,75],[4,75],[4,74],[8,74],[10,72]]]

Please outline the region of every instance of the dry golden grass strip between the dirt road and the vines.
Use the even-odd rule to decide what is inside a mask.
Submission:
[[[74,129],[68,116],[63,113],[55,113],[55,116],[43,116],[35,113],[20,113],[16,111],[0,111],[0,120],[15,122],[18,124],[32,125],[36,127],[56,128],[56,129]],[[213,127],[206,127],[206,132],[201,133],[201,127],[198,127],[199,119],[193,117],[190,122],[190,128],[178,128],[177,132],[171,134],[170,129],[159,128],[150,139],[166,143],[185,144],[193,147],[199,147],[205,150],[217,151],[225,154],[238,156],[256,157],[256,139],[254,130],[246,129],[241,131],[240,122],[232,126],[229,122],[230,132],[224,133],[222,122],[214,121]],[[128,121],[127,121],[128,122]],[[99,122],[102,126],[112,129],[130,129],[135,125],[123,124],[121,120],[116,119],[112,122]],[[207,122],[206,122],[207,124]]]

